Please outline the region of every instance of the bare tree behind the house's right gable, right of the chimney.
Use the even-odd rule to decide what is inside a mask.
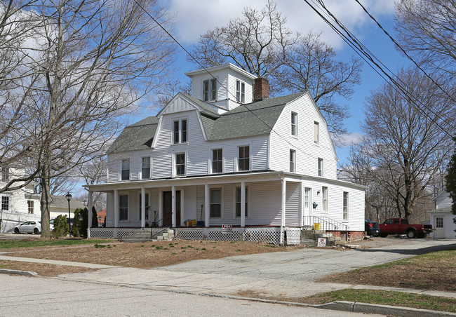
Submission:
[[[349,117],[347,106],[335,102],[335,96],[349,99],[353,86],[361,83],[360,60],[337,62],[335,51],[320,39],[321,34],[309,32],[300,36],[293,49],[289,50],[285,67],[277,74],[279,87],[292,93],[309,90],[318,108],[328,122],[333,138],[347,133],[344,119]]]

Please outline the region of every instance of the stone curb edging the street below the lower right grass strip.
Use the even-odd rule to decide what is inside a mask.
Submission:
[[[456,313],[447,311],[431,311],[428,309],[416,309],[408,307],[396,307],[380,304],[366,304],[358,302],[331,302],[323,305],[311,305],[321,309],[333,309],[335,311],[353,311],[356,313],[377,313],[380,315],[414,316],[414,317],[439,317],[456,316]]]

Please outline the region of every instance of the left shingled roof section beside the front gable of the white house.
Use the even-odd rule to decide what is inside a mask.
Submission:
[[[142,119],[141,121],[126,127],[112,143],[107,152],[110,154],[123,151],[150,149],[158,124],[158,118],[149,116],[146,119]]]

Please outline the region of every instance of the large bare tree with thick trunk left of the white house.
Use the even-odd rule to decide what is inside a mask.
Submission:
[[[6,126],[0,157],[6,158],[2,166],[22,156],[33,164],[3,190],[39,178],[44,238],[51,237],[51,179],[99,157],[123,114],[166,79],[174,47],[143,8],[169,22],[155,0],[38,1],[22,8],[37,22],[27,41],[16,43],[28,76],[15,81],[9,112],[14,128]]]

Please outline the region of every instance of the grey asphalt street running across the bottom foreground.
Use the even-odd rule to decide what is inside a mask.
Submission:
[[[0,285],[0,316],[366,316],[56,278],[0,274]]]

